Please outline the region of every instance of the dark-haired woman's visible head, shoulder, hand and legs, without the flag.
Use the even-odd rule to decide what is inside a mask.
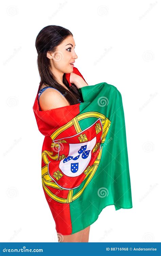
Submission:
[[[82,102],[78,89],[87,86],[84,79],[73,73],[75,41],[73,34],[60,26],[44,27],[35,42],[37,64],[40,75],[38,104],[40,111],[60,108]],[[65,73],[70,73],[70,83]],[[59,242],[88,242],[90,226],[77,233],[63,235],[57,233]]]

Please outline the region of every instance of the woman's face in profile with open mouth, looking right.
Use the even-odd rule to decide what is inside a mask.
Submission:
[[[59,44],[54,53],[47,53],[47,57],[51,59],[51,67],[62,73],[72,73],[74,62],[78,58],[75,51],[75,42],[72,35],[69,35],[61,44]]]

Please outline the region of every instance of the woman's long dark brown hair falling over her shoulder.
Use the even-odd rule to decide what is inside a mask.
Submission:
[[[66,28],[56,25],[49,25],[40,30],[36,37],[35,47],[37,50],[37,65],[40,75],[40,85],[49,85],[59,90],[65,95],[70,105],[79,103],[79,100],[83,101],[82,95],[79,94],[77,87],[74,84],[69,85],[65,73],[63,75],[63,84],[69,89],[69,91],[56,81],[56,77],[50,70],[50,59],[47,57],[47,52],[54,52],[56,47],[66,39],[69,35],[73,34]]]

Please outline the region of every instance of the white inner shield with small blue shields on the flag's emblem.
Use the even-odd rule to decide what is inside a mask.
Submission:
[[[69,177],[76,177],[82,174],[91,160],[91,154],[95,144],[96,137],[91,141],[83,143],[69,143],[69,154],[60,161],[60,170]]]

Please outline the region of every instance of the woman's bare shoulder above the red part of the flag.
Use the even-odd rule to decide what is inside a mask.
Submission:
[[[40,95],[40,108],[42,111],[61,108],[70,105],[67,99],[59,91],[48,88]]]

